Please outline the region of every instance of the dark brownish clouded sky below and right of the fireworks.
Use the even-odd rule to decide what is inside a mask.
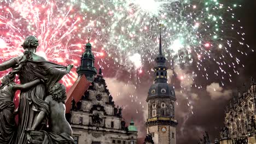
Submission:
[[[245,27],[245,39],[246,43],[253,47],[256,45],[256,19],[255,19],[255,9],[256,1],[246,0],[239,1],[243,6],[236,10],[237,19],[241,19],[242,26]],[[163,47],[163,49],[165,49]],[[248,50],[249,51],[249,50]],[[219,89],[219,93],[207,91],[207,86],[214,86],[214,83],[219,81],[214,81],[216,77],[210,77],[211,82],[206,80],[196,80],[200,83],[203,83],[203,87],[200,91],[198,89],[191,89],[190,92],[181,94],[177,91],[179,86],[179,81],[176,80],[176,98],[178,105],[176,105],[176,119],[178,120],[177,127],[177,143],[178,144],[187,144],[187,143],[197,143],[197,141],[202,137],[204,131],[208,131],[210,135],[210,140],[213,142],[215,138],[219,138],[219,130],[224,126],[224,109],[225,106],[229,104],[229,100],[235,95],[237,91],[243,91],[243,83],[245,82],[246,86],[249,86],[251,76],[256,77],[255,74],[255,52],[248,52],[247,57],[241,58],[241,63],[245,65],[245,68],[238,68],[240,75],[233,75],[232,82],[229,82],[228,79],[225,80],[226,84],[223,89]],[[150,65],[152,66],[152,65]],[[114,74],[111,74],[110,71],[113,71]],[[122,89],[122,85],[125,84],[129,77],[126,76],[125,71],[120,69],[109,69],[109,71],[104,71],[104,76],[106,78],[108,88],[112,95],[114,95],[114,100],[116,104],[123,105],[126,107],[124,109],[124,119],[126,122],[129,122],[131,117],[135,119],[135,124],[139,128],[139,137],[143,137],[146,134],[144,127],[144,118],[147,118],[147,107],[141,109],[141,105],[136,105],[134,103],[127,103],[131,101],[129,98],[129,92],[134,91],[139,95],[138,99],[146,105],[146,97],[148,93],[148,88],[152,85],[153,74],[144,75],[142,83],[134,89],[132,85]],[[112,78],[109,78],[112,77]],[[115,77],[115,78],[113,78]],[[175,80],[175,79],[173,79]],[[121,82],[122,81],[122,82]],[[183,83],[184,84],[184,83]],[[117,96],[115,93],[118,93],[122,89],[121,95],[126,97]],[[189,111],[187,105],[187,100],[184,95],[196,95],[194,98],[194,114],[192,115]],[[132,105],[132,106],[131,106]],[[138,113],[136,113],[138,110]],[[143,113],[143,115],[142,115]]]

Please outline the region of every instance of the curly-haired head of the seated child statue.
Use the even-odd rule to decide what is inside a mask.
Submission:
[[[66,87],[57,82],[53,87],[50,88],[49,95],[51,95],[53,100],[57,101],[58,103],[62,102],[65,104],[65,100],[67,99]]]

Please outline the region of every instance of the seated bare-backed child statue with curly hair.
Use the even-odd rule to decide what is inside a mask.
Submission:
[[[33,141],[33,137],[30,135],[30,133],[32,131],[36,131],[37,126],[46,117],[48,118],[49,128],[47,132],[42,131],[45,136],[42,142],[43,144],[74,143],[74,140],[71,137],[71,126],[65,118],[66,97],[66,88],[62,84],[56,83],[52,88],[50,88],[49,95],[45,98],[45,102],[49,104],[49,113],[47,111],[40,111],[32,128],[26,130],[28,143]]]

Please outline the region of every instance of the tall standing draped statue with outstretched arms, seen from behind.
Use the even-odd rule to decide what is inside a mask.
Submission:
[[[18,144],[27,143],[25,129],[31,128],[36,121],[39,111],[47,110],[44,98],[48,88],[68,74],[73,65],[67,67],[45,61],[43,57],[36,55],[38,39],[33,35],[26,37],[21,45],[24,48],[24,55],[9,59],[0,64],[0,71],[13,68],[11,76],[19,75],[21,84],[31,82],[35,79],[42,79],[45,84],[38,84],[27,91],[21,91],[19,101],[19,123],[18,123]],[[38,128],[43,129],[45,123]]]

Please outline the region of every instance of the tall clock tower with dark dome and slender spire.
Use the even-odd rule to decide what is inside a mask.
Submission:
[[[177,120],[174,119],[175,92],[167,83],[166,58],[162,55],[161,25],[159,55],[155,58],[154,83],[149,88],[147,134],[153,137],[155,144],[176,144]]]

